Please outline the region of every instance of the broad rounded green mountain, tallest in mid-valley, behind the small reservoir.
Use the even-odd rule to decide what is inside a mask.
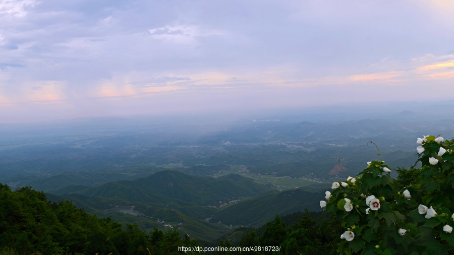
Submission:
[[[167,197],[202,206],[218,206],[219,201],[228,203],[232,200],[255,197],[266,190],[269,190],[269,187],[239,175],[215,179],[165,170],[135,180],[107,182],[96,187],[87,187],[76,191],[75,194],[145,203],[162,202],[160,197]],[[61,190],[59,194],[62,194]],[[172,201],[168,201],[170,202]]]

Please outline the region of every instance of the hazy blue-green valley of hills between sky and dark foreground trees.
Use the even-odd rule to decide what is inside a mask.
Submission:
[[[31,186],[52,202],[69,200],[145,232],[213,241],[276,215],[320,211],[332,181],[355,176],[367,161],[412,166],[416,137],[454,136],[448,118],[421,122],[423,116],[215,126],[104,118],[33,132],[0,126],[0,182]]]

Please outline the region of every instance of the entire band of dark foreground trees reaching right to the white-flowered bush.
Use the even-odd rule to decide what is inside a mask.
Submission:
[[[279,246],[282,254],[331,254],[340,231],[338,222],[321,213],[294,213],[282,219],[276,215],[258,229],[240,228],[233,232],[241,232],[238,239],[225,237],[216,243],[177,230],[145,233],[137,224],[99,219],[70,201],[48,202],[44,193],[30,187],[11,190],[0,184],[0,199],[0,254],[183,254],[178,247],[233,245]],[[198,252],[186,252],[191,253]]]

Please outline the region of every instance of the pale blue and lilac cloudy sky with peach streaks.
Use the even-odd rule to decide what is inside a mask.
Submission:
[[[454,99],[454,1],[0,0],[0,122]]]

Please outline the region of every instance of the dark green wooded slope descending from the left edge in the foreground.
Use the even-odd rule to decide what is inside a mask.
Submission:
[[[0,184],[0,200],[0,254],[173,254],[178,246],[197,245],[176,230],[147,234],[69,201],[49,203],[29,187],[12,191]]]

